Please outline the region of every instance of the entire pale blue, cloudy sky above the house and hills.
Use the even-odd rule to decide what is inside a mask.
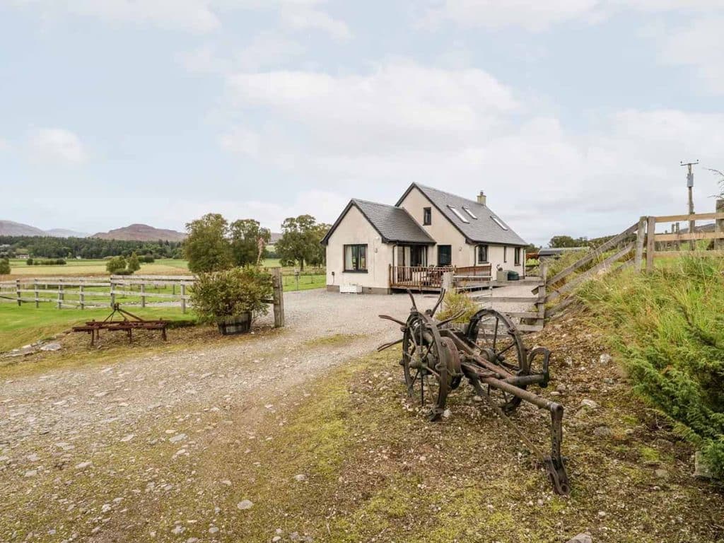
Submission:
[[[60,5],[64,7],[60,7]],[[413,181],[526,240],[696,211],[722,0],[0,0],[0,219],[332,222]]]

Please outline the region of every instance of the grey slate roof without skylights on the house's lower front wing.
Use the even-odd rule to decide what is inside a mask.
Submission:
[[[327,245],[332,232],[337,229],[352,206],[355,206],[365,216],[374,230],[382,237],[384,243],[421,243],[425,245],[435,243],[406,209],[353,198],[321,240],[322,245]]]

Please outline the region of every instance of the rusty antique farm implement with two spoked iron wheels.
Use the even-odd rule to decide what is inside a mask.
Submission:
[[[443,321],[434,318],[444,291],[434,308],[426,311],[418,311],[413,295],[409,291],[408,294],[412,308],[407,321],[380,315],[381,319],[400,325],[402,339],[378,348],[384,350],[402,343],[400,365],[403,366],[408,395],[419,395],[422,405],[426,395],[431,396],[433,405],[429,419],[437,421],[445,412],[447,395],[460,386],[463,377],[468,379],[476,394],[487,401],[539,456],[555,492],[567,495],[570,490],[568,476],[560,455],[563,405],[526,390],[534,384],[547,387],[550,351],[542,347],[527,350],[520,332],[505,313],[481,309],[463,329],[458,329],[450,323],[462,312]],[[534,367],[539,371],[533,371]],[[508,417],[523,400],[550,412],[551,450],[548,454],[540,452]]]

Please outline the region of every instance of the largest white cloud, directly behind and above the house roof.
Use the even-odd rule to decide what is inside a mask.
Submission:
[[[222,146],[245,161],[334,188],[342,205],[353,196],[394,203],[413,180],[471,198],[482,189],[537,243],[683,211],[678,161],[724,167],[724,115],[631,109],[593,117],[581,136],[481,70],[396,60],[367,75],[254,72],[229,85],[232,113],[247,122]],[[710,209],[715,178],[696,183],[697,209]],[[309,209],[327,211],[315,201]]]

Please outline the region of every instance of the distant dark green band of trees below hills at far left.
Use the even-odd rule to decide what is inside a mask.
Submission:
[[[106,258],[130,257],[132,253],[153,258],[182,258],[181,242],[101,240],[98,237],[0,236],[0,256],[27,253],[34,258]]]

